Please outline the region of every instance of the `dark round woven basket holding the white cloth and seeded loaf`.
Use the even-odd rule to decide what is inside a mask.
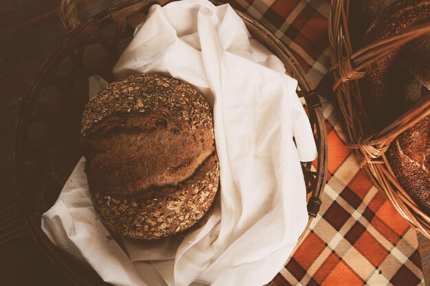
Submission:
[[[16,192],[25,221],[43,253],[76,285],[107,284],[49,241],[41,230],[41,215],[54,204],[82,156],[80,119],[88,101],[87,79],[97,74],[109,82],[115,80],[111,73],[113,65],[130,43],[135,25],[144,20],[153,3],[156,2],[144,0],[122,5],[80,25],[74,18],[72,1],[63,1],[63,21],[70,34],[38,71],[19,106],[14,167]],[[326,184],[327,135],[318,95],[310,91],[304,72],[288,49],[258,22],[241,12],[238,14],[251,34],[284,62],[288,74],[298,81],[299,95],[306,100],[319,152],[314,163],[302,164],[310,222],[319,210]]]

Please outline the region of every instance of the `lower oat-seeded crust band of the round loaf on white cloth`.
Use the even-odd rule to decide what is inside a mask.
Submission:
[[[218,190],[218,160],[212,154],[192,178],[152,198],[94,193],[95,211],[111,228],[133,239],[159,239],[187,230],[209,210]]]

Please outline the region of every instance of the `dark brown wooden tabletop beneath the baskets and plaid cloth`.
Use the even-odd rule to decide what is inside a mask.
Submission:
[[[80,6],[85,18],[107,0]],[[14,193],[12,147],[19,98],[41,64],[66,36],[59,0],[4,0],[0,5],[0,286],[71,285],[54,270],[30,238]],[[430,241],[420,239],[426,285],[430,286]],[[240,286],[240,285],[238,285]]]

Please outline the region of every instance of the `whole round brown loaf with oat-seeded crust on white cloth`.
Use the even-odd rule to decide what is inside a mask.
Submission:
[[[84,110],[81,143],[95,211],[121,235],[173,235],[212,205],[212,115],[189,84],[155,73],[109,84]]]

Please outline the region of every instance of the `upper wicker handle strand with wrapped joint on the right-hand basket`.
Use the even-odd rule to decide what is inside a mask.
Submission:
[[[349,56],[342,58],[339,63],[333,65],[329,69],[330,72],[337,70],[339,74],[339,79],[333,85],[333,91],[336,91],[343,82],[363,78],[370,64],[376,62],[376,60],[379,60],[387,53],[397,49],[410,40],[414,40],[414,38],[418,38],[418,36],[428,32],[430,32],[429,21],[407,27],[396,34],[387,36],[381,40],[376,40],[367,47],[350,53]]]

